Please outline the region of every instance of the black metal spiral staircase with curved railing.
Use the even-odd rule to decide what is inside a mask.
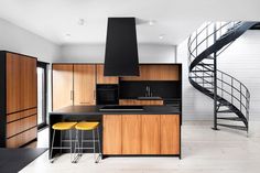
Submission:
[[[188,39],[189,83],[214,99],[214,130],[218,127],[248,132],[248,88],[217,69],[217,57],[258,22],[206,22]]]

